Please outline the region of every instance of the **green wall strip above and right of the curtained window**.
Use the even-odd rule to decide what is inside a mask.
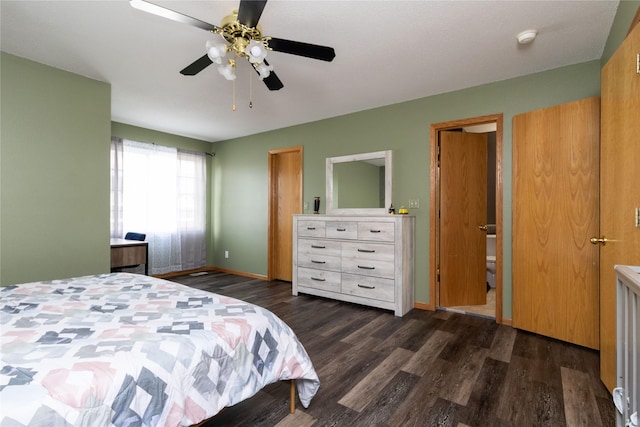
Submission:
[[[201,153],[211,154],[213,149],[208,141],[200,139],[187,138],[185,136],[173,135],[170,133],[159,132],[151,129],[132,126],[125,123],[112,122],[111,135],[119,138],[129,139],[131,141],[146,142],[150,144],[158,144],[165,147],[176,147],[184,150],[198,151]],[[207,265],[213,265],[213,235],[212,235],[212,209],[211,209],[211,189],[212,189],[212,156],[207,156]]]

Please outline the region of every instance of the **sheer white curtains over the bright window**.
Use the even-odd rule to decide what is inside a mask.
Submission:
[[[113,138],[112,175],[112,237],[145,233],[152,274],[205,265],[203,153]]]

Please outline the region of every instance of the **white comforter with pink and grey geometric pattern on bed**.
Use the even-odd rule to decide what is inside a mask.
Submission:
[[[291,329],[253,304],[129,273],[0,288],[0,426],[189,426],[297,379]]]

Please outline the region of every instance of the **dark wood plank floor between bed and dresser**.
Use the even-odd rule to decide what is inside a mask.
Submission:
[[[261,305],[298,335],[321,386],[289,414],[287,383],[228,408],[213,426],[614,426],[598,352],[445,311],[385,310],[312,296],[291,284],[223,273],[180,276]]]

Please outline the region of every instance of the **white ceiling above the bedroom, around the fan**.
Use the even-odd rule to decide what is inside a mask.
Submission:
[[[151,0],[153,1],[153,0]],[[220,25],[233,1],[155,1]],[[112,120],[219,141],[600,59],[618,1],[270,0],[266,36],[331,46],[333,62],[280,52],[271,92],[241,62],[179,71],[210,34],[127,0],[0,1],[2,50],[111,84]],[[533,44],[516,35],[537,29]],[[253,79],[253,108],[249,81]]]

